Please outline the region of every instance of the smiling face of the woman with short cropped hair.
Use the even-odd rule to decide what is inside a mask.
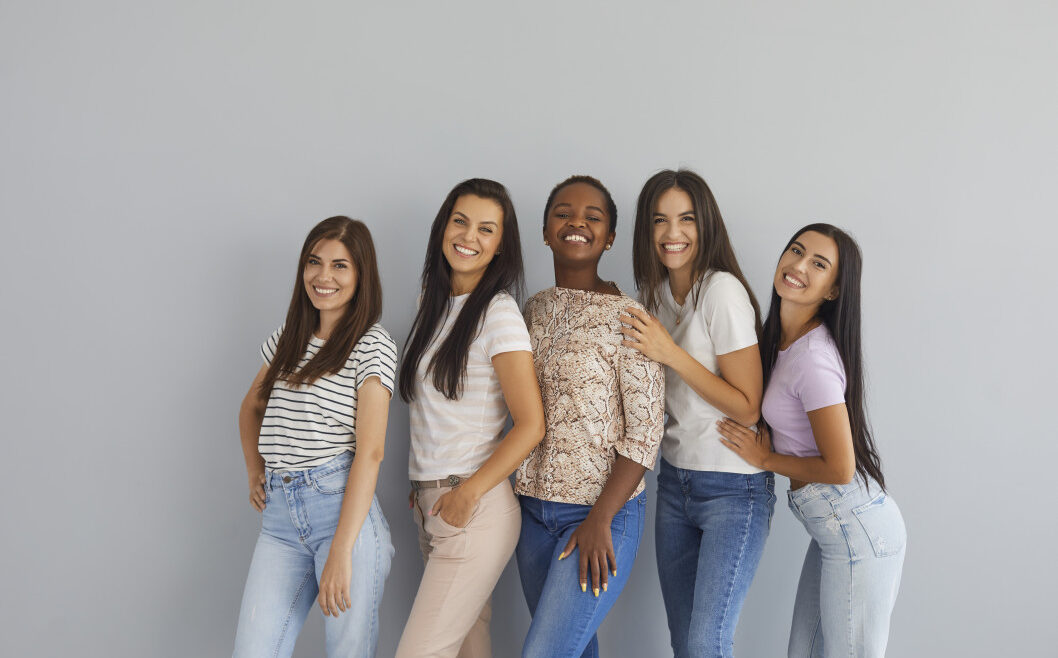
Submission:
[[[614,242],[605,196],[587,183],[566,185],[548,208],[544,239],[555,262],[596,262]]]

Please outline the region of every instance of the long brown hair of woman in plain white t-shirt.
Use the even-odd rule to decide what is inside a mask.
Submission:
[[[760,336],[761,307],[738,267],[719,205],[705,179],[690,169],[658,171],[643,184],[643,189],[639,193],[632,240],[632,271],[636,289],[642,292],[643,306],[650,312],[656,312],[661,303],[659,290],[669,280],[669,271],[661,264],[654,248],[654,211],[657,208],[658,198],[673,188],[686,191],[691,198],[694,223],[698,227],[698,254],[694,259],[693,280],[698,280],[709,270],[727,272],[738,279],[749,294],[749,303],[753,305],[754,325],[756,335]],[[700,288],[700,285],[693,288],[695,304],[698,301]]]

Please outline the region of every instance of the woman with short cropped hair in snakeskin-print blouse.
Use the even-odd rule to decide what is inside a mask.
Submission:
[[[642,536],[664,380],[660,365],[621,345],[619,316],[638,305],[599,277],[616,223],[613,198],[587,176],[559,183],[545,206],[555,287],[533,295],[525,315],[547,428],[516,479],[527,657],[598,656],[596,630]]]

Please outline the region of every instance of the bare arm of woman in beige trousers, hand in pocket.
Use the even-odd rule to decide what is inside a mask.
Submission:
[[[532,353],[501,352],[492,358],[513,426],[481,468],[467,481],[437,499],[431,514],[445,523],[464,527],[477,501],[507,478],[544,438],[544,404],[533,369]]]

